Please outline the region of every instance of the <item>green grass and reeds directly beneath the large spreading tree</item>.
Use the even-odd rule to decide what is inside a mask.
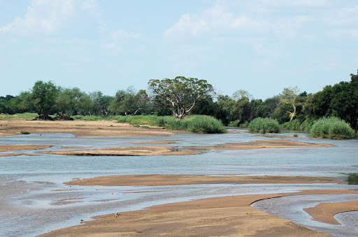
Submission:
[[[118,119],[120,123],[131,125],[152,125],[169,130],[186,130],[195,133],[224,133],[226,128],[221,121],[206,115],[191,115],[177,121],[173,116],[122,116]]]

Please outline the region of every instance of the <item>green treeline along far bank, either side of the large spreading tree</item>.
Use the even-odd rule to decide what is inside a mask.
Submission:
[[[247,126],[255,118],[275,119],[283,128],[308,130],[320,117],[338,117],[358,129],[358,74],[350,82],[325,86],[317,93],[285,88],[266,100],[255,99],[248,91],[234,95],[216,95],[196,102],[190,114],[210,115],[225,125]],[[119,90],[115,96],[101,91],[85,93],[78,88],[63,88],[52,82],[38,81],[20,95],[0,97],[0,113],[73,115],[172,115],[163,103],[150,100],[147,91],[133,87]]]

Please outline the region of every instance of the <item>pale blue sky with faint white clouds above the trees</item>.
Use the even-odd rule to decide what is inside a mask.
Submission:
[[[358,0],[0,0],[0,96],[38,80],[115,95],[206,79],[254,98],[358,69]]]

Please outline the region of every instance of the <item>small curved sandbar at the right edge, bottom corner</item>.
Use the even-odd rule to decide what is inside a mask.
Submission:
[[[358,211],[358,201],[322,203],[313,208],[305,208],[303,210],[310,214],[313,220],[328,224],[339,224],[339,222],[334,219],[334,215],[348,211]]]

